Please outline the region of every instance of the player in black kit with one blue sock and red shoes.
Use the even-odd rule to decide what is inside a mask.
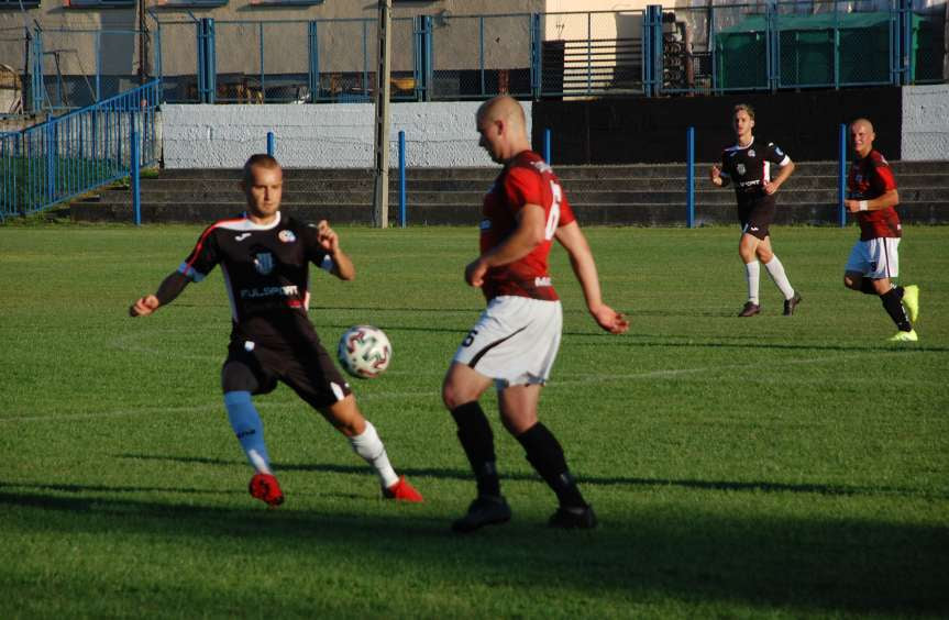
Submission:
[[[129,312],[132,317],[152,314],[189,283],[202,280],[221,265],[232,319],[221,387],[231,428],[255,470],[251,495],[269,506],[284,501],[271,469],[261,417],[251,399],[283,381],[375,468],[383,497],[422,501],[405,476],[396,475],[376,429],[363,418],[307,315],[310,264],[342,280],[353,279],[355,267],[325,220],[307,224],[280,213],[283,182],[283,170],[269,155],[247,159],[241,182],[246,212],[208,226],[157,292],[137,299]]]

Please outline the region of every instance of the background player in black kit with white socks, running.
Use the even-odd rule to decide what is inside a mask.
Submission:
[[[721,153],[721,166],[711,166],[709,177],[717,187],[735,184],[738,220],[741,222],[738,254],[744,263],[748,281],[748,301],[738,315],[753,317],[761,312],[758,297],[761,261],[784,296],[784,315],[790,317],[801,303],[801,295],[791,286],[784,265],[771,248],[769,226],[776,209],[774,193],[794,171],[794,162],[773,142],[754,140],[751,132],[754,128],[754,110],[751,106],[739,103],[735,107],[732,125],[738,144]],[[772,176],[775,166],[777,174]]]

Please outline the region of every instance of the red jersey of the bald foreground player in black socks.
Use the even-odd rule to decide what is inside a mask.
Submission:
[[[492,267],[482,287],[488,300],[501,295],[533,299],[559,299],[550,279],[548,256],[559,226],[576,220],[560,179],[533,151],[519,153],[495,179],[484,199],[481,223],[482,254],[500,245],[517,229],[517,214],[525,204],[538,204],[547,222],[544,240],[527,256]]]

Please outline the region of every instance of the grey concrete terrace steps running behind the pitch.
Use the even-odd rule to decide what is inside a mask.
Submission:
[[[949,222],[949,162],[894,162],[900,215],[907,223]],[[709,164],[696,165],[696,225],[736,224],[735,193],[708,181]],[[584,224],[685,225],[685,165],[555,166]],[[476,224],[484,192],[498,168],[416,168],[408,171],[409,225]],[[162,170],[142,179],[143,222],[208,223],[244,209],[240,170]],[[389,186],[389,220],[399,223],[398,176]],[[372,171],[287,169],[283,210],[307,220],[371,223]],[[798,163],[779,193],[776,223],[837,224],[837,163]],[[133,219],[128,189],[75,201],[80,221]]]

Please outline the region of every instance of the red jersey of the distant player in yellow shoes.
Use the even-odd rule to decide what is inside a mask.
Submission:
[[[879,151],[871,151],[867,157],[850,165],[847,175],[847,190],[851,200],[873,200],[896,189],[896,179],[886,158]],[[875,211],[858,211],[860,223],[860,241],[870,241],[882,236],[903,236],[900,215],[896,209],[887,207]]]

